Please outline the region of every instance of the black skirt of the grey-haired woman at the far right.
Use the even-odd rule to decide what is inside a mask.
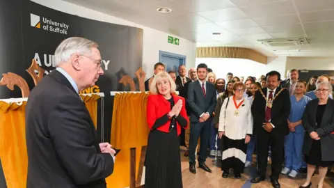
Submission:
[[[321,142],[313,141],[310,154],[305,155],[305,162],[313,166],[328,167],[333,164],[333,162],[322,161],[321,160]]]

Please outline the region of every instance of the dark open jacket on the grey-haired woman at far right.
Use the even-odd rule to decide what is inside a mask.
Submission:
[[[303,113],[303,126],[306,133],[303,143],[303,153],[310,155],[310,149],[313,143],[313,139],[310,137],[311,132],[317,132],[319,134],[321,144],[321,160],[334,161],[334,100],[328,98],[324,116],[322,116],[321,125],[319,128],[316,126],[316,113],[319,99],[311,100],[306,105]]]

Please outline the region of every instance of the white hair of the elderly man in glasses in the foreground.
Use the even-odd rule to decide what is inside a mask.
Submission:
[[[66,40],[63,40],[60,45],[58,45],[56,52],[54,52],[54,65],[58,67],[59,64],[69,61],[70,57],[74,53],[90,54],[93,47],[99,47],[99,45],[97,45],[96,42],[93,42],[86,38],[67,38]]]

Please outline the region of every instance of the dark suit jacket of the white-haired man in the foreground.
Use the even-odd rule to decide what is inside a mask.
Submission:
[[[113,157],[101,153],[92,119],[70,81],[52,71],[26,104],[28,188],[106,187]]]

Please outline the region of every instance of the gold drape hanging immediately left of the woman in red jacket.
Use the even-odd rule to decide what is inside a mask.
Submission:
[[[116,156],[113,174],[106,178],[107,187],[129,187],[130,148],[136,148],[136,177],[138,175],[141,147],[148,143],[146,105],[148,94],[116,94],[113,102],[111,145],[121,151]]]

